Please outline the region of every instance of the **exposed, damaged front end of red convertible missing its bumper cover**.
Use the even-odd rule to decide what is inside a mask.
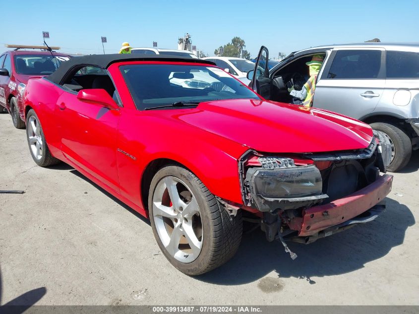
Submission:
[[[391,152],[381,135],[358,151],[244,156],[243,201],[258,210],[267,240],[310,243],[375,219],[393,182],[391,175],[380,176]]]

